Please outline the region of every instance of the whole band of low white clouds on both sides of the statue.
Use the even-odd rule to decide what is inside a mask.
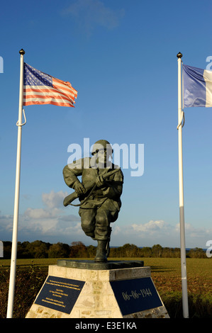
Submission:
[[[81,241],[84,244],[96,244],[82,231],[78,209],[65,208],[62,205],[67,193],[59,191],[43,193],[43,208],[28,208],[19,215],[18,240],[32,241],[42,239],[44,242],[65,242],[71,244]],[[121,246],[126,243],[140,247],[180,247],[179,223],[171,225],[164,220],[150,220],[145,223],[122,224],[121,219],[111,223],[111,245]],[[1,215],[0,239],[11,240],[13,215]],[[185,224],[186,247],[206,247],[208,239],[212,239],[212,228],[194,227]]]

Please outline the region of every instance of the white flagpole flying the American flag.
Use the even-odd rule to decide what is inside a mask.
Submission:
[[[23,111],[23,55],[24,50],[19,51],[20,60],[20,90],[19,90],[19,106],[18,106],[18,140],[17,140],[17,157],[16,157],[16,187],[13,213],[13,239],[11,249],[11,271],[9,281],[9,296],[7,307],[7,318],[13,317],[13,300],[16,281],[16,256],[17,256],[17,238],[18,238],[18,210],[19,210],[19,193],[20,193],[20,171],[21,171],[21,130],[22,130],[22,111]]]

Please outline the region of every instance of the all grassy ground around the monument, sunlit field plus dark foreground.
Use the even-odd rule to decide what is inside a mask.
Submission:
[[[151,267],[152,280],[155,283],[158,293],[162,298],[164,305],[167,307],[170,317],[182,317],[182,285],[181,285],[181,264],[179,258],[139,258],[144,261],[144,266]],[[88,259],[85,259],[88,260]],[[114,260],[111,258],[110,260]],[[116,260],[138,260],[138,258],[116,258]],[[18,278],[16,278],[16,289],[21,289],[23,275],[26,271],[32,278],[28,288],[32,286],[32,296],[28,303],[32,303],[33,298],[37,295],[42,286],[45,276],[48,275],[48,266],[57,264],[57,259],[17,259]],[[186,259],[187,267],[187,284],[189,294],[189,314],[191,317],[212,317],[212,261],[211,259]],[[10,260],[0,260],[1,279],[5,278],[4,289],[0,288],[0,317],[4,317],[5,305],[1,302],[6,300],[5,286],[9,284]],[[38,273],[39,271],[39,273]],[[22,272],[22,273],[21,273]],[[36,275],[37,274],[37,275]],[[35,277],[34,277],[35,276]],[[3,278],[3,279],[4,279]],[[1,283],[0,279],[0,283]],[[30,281],[30,279],[28,278]],[[3,282],[3,281],[2,281]],[[20,286],[19,286],[20,285]],[[1,286],[0,286],[1,287]],[[38,289],[38,290],[37,290]],[[17,290],[17,294],[19,292]],[[21,293],[19,299],[24,298]],[[24,301],[21,301],[24,303]],[[19,301],[20,303],[20,301]],[[29,304],[25,305],[26,309],[19,314],[16,310],[16,317],[24,317],[28,310]],[[2,310],[4,307],[4,310]],[[18,305],[17,305],[18,307]]]

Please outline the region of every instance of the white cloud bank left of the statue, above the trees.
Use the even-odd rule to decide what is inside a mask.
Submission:
[[[83,234],[80,218],[78,214],[65,215],[70,213],[69,208],[62,205],[65,196],[67,193],[62,191],[43,193],[45,208],[27,208],[19,215],[18,240],[23,242],[43,239],[45,242],[63,242],[62,239],[66,239],[67,242],[70,239],[69,244],[78,241]],[[12,230],[13,215],[1,215],[0,212],[0,239],[11,240]]]

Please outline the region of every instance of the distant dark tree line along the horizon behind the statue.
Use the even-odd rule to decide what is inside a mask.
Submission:
[[[11,242],[4,243],[4,258],[11,259]],[[50,244],[35,240],[35,242],[18,242],[17,258],[94,258],[96,247],[86,247],[82,242],[72,242],[71,245],[57,242]],[[111,258],[140,258],[140,257],[161,257],[179,258],[180,249],[162,247],[155,244],[153,247],[137,247],[134,244],[124,244],[122,247],[111,247]],[[196,247],[186,252],[188,258],[207,258],[206,252]],[[0,258],[1,259],[1,258]]]

